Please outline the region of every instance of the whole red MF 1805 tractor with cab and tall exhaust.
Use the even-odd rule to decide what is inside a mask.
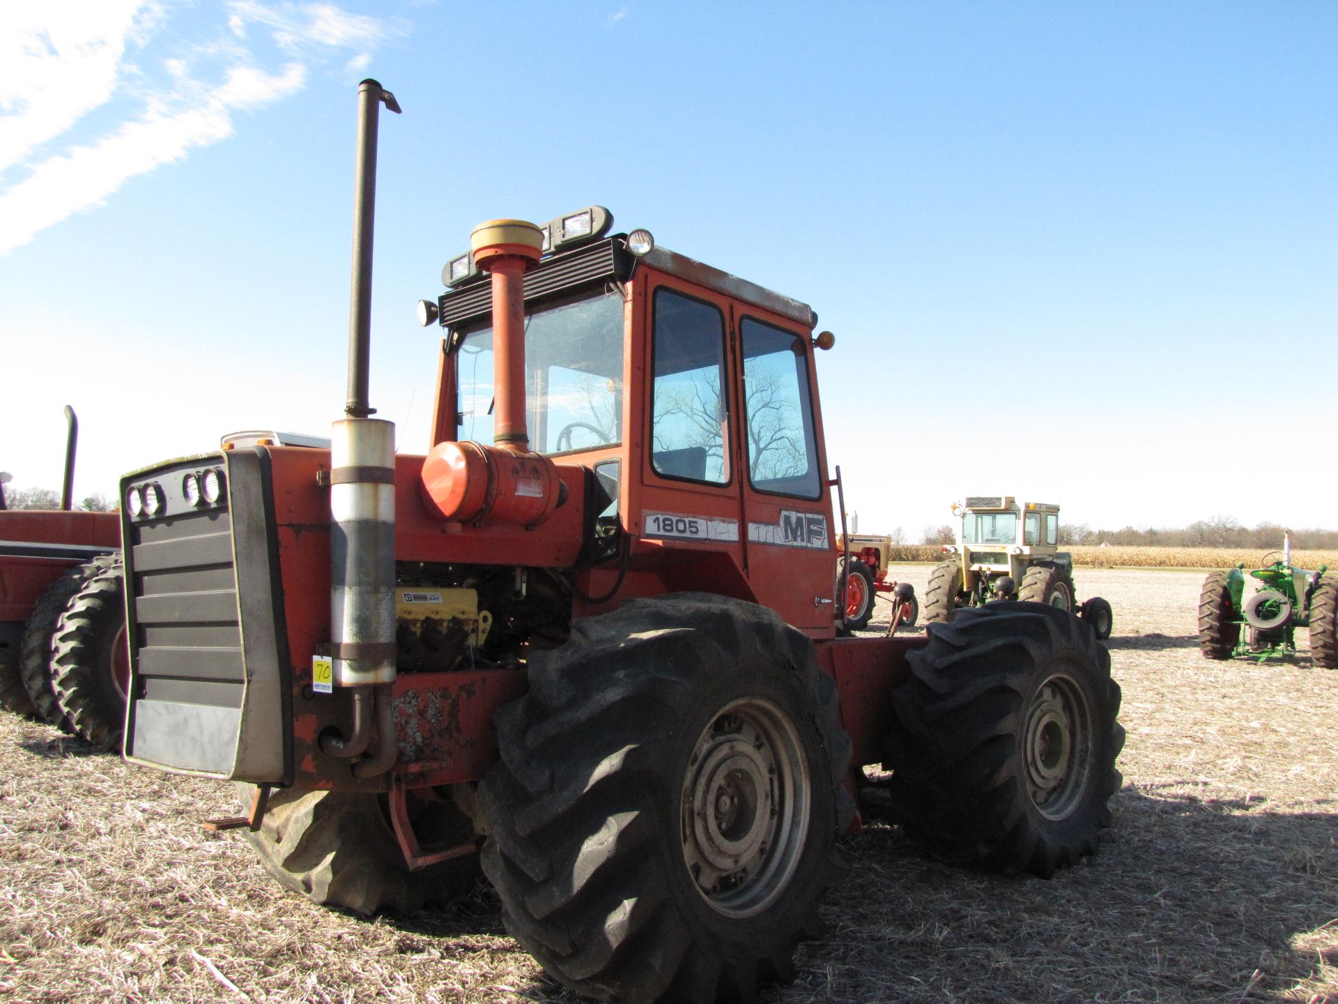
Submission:
[[[252,786],[265,866],[375,912],[475,870],[557,980],[733,1001],[793,972],[860,764],[950,861],[1049,875],[1120,786],[1120,689],[1041,604],[836,637],[805,305],[611,233],[482,224],[419,304],[431,448],[368,404],[379,106],[360,88],[351,372],[330,448],[122,482],[126,756]],[[397,343],[400,340],[397,339]]]

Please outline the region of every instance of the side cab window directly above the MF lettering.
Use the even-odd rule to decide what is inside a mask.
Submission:
[[[791,331],[745,317],[748,479],[757,491],[818,498],[822,478],[808,400],[808,352]]]

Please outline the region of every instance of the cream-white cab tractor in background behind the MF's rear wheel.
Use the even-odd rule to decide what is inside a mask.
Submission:
[[[1100,640],[1111,637],[1111,604],[1073,598],[1073,557],[1058,549],[1060,507],[1017,502],[1012,495],[969,495],[953,503],[959,517],[951,557],[929,577],[925,620],[945,624],[961,606],[991,600],[1024,600],[1077,613]]]

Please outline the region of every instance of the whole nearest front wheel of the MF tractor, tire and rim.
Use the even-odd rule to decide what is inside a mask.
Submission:
[[[602,1000],[752,1000],[793,976],[854,814],[812,643],[702,593],[578,620],[498,712],[483,867],[511,933]]]

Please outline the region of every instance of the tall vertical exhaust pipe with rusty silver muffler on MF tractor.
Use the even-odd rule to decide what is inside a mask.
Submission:
[[[330,428],[330,641],[336,685],[356,687],[353,735],[325,736],[322,748],[352,758],[367,750],[373,718],[377,751],[365,764],[393,764],[395,732],[369,707],[369,687],[395,681],[395,423],[369,418],[372,232],[376,213],[376,135],[380,106],[400,111],[376,80],[357,92],[357,173],[353,274],[348,325],[347,418]],[[389,708],[389,688],[380,703]]]

